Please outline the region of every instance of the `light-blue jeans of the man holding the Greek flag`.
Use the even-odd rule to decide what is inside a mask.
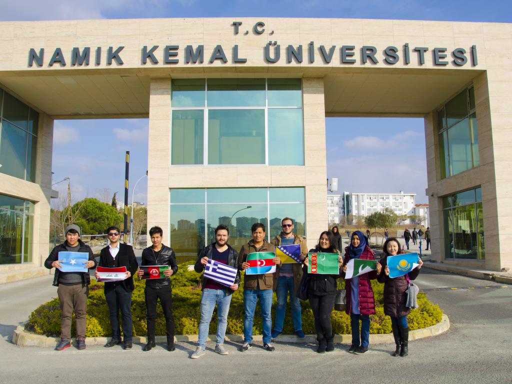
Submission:
[[[224,344],[224,336],[227,328],[227,314],[231,304],[231,294],[228,289],[203,289],[201,296],[201,322],[199,323],[198,344],[202,349],[206,348],[206,337],[210,329],[211,315],[217,304],[217,344]]]

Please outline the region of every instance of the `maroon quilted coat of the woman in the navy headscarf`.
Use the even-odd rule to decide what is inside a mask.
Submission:
[[[347,264],[352,257],[349,254],[349,248],[345,247],[345,257],[343,265]],[[367,245],[365,250],[362,251],[360,260],[375,260],[375,253]],[[373,290],[370,280],[377,278],[377,271],[372,271],[359,276],[359,312],[361,315],[373,315],[375,313],[375,298],[373,297]],[[350,281],[352,279],[345,280],[345,298],[347,302],[347,314],[350,314],[352,306],[352,286]]]

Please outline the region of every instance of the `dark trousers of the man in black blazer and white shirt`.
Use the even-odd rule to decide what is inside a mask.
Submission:
[[[121,341],[119,310],[123,325],[124,343],[132,343],[132,292],[127,292],[121,283],[105,284],[105,300],[109,306],[112,340]]]

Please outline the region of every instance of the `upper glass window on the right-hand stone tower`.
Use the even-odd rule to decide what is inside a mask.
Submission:
[[[447,102],[437,117],[441,178],[480,165],[473,86]]]

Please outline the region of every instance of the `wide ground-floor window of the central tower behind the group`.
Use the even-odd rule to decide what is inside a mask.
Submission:
[[[251,239],[252,224],[265,224],[270,241],[280,233],[284,217],[305,235],[304,188],[170,190],[170,244],[179,262],[195,260],[205,244],[214,242],[219,224],[229,227],[229,244],[239,250]]]

